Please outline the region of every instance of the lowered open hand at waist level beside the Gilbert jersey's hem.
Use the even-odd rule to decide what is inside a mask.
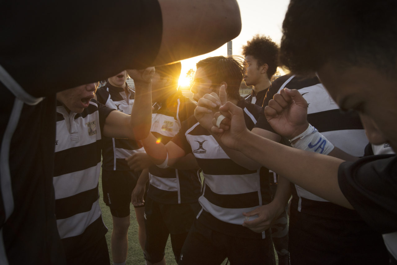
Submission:
[[[248,213],[243,213],[245,217],[251,217],[249,221],[243,222],[243,226],[254,232],[260,233],[272,225],[273,221],[279,216],[279,211],[280,209],[275,207],[272,203],[259,206]],[[258,217],[252,219],[253,216]]]

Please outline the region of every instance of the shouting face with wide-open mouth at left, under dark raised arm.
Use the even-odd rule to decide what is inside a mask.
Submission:
[[[73,87],[56,94],[56,99],[60,101],[67,110],[75,113],[81,113],[90,104],[90,100],[94,98],[97,83],[89,83],[79,87]]]

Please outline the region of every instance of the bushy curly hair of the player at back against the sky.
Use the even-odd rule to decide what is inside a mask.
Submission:
[[[266,74],[272,78],[276,73],[279,57],[279,46],[268,36],[256,34],[247,45],[243,46],[243,56],[250,55],[258,60],[258,66],[268,65]]]

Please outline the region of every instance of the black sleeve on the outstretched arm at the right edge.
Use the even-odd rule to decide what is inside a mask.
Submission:
[[[339,166],[338,182],[357,213],[382,234],[397,231],[397,157],[376,155]]]

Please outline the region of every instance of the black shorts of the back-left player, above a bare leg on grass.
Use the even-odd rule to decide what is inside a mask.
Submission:
[[[131,194],[140,175],[141,171],[102,170],[103,201],[109,206],[110,213],[114,217],[122,218],[130,214]],[[146,185],[146,191],[147,187],[148,185]]]

